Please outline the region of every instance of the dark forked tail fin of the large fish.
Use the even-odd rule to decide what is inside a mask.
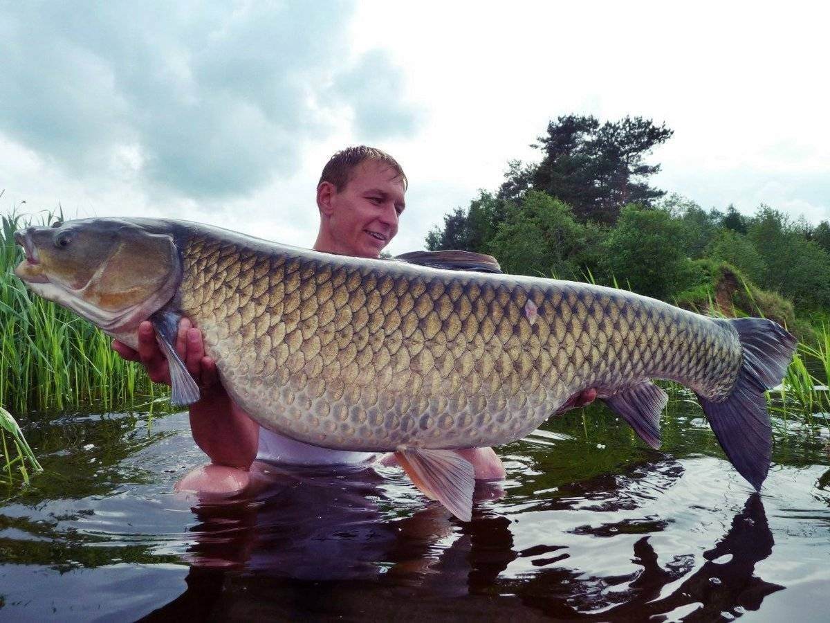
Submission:
[[[766,318],[718,322],[737,331],[743,361],[732,393],[725,400],[698,397],[726,456],[757,491],[767,477],[773,445],[764,391],[784,378],[797,341]]]

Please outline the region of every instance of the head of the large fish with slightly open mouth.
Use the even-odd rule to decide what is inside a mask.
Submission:
[[[26,254],[17,277],[113,335],[164,306],[181,280],[173,235],[138,220],[85,218],[27,227],[14,239]]]

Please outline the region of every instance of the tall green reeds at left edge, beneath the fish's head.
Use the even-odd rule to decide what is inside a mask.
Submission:
[[[41,224],[51,220],[41,218]],[[63,410],[89,402],[105,409],[152,395],[138,365],[110,349],[89,321],[32,294],[12,270],[22,260],[19,214],[2,216],[0,246],[0,405],[13,412]]]

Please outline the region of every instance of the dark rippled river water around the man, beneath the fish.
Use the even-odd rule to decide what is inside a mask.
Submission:
[[[28,414],[46,469],[0,503],[0,620],[830,620],[830,435],[776,419],[754,493],[700,408],[648,449],[602,405],[503,446],[469,523],[396,468],[173,493],[185,414]]]

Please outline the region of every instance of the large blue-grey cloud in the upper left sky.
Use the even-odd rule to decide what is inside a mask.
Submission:
[[[298,173],[305,145],[334,129],[326,108],[354,110],[364,133],[371,118],[373,138],[412,130],[412,105],[369,92],[401,80],[385,52],[339,66],[351,12],[351,2],[18,4],[0,27],[10,69],[0,131],[90,181],[131,170],[173,199],[251,194]]]

